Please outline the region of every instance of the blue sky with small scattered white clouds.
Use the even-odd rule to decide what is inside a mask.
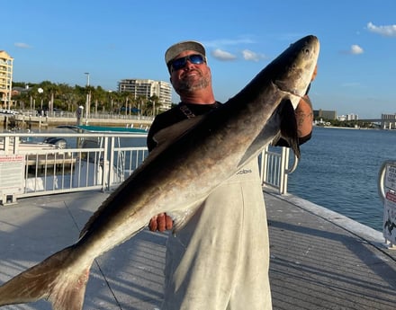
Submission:
[[[294,40],[320,39],[314,109],[360,119],[396,112],[396,1],[22,1],[2,5],[0,50],[14,81],[115,90],[124,78],[168,81],[164,52],[200,40],[216,98],[238,93]],[[174,102],[178,102],[176,95]]]

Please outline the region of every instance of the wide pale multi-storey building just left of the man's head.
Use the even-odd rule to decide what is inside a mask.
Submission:
[[[160,110],[168,110],[172,105],[172,86],[164,81],[147,79],[124,79],[118,82],[118,91],[133,94],[133,98],[149,98],[156,95],[161,104]]]

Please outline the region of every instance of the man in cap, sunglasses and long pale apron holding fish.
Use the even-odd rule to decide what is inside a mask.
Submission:
[[[211,87],[206,52],[196,41],[166,50],[170,82],[181,102],[157,115],[148,132],[148,150],[155,134],[179,121],[220,106]],[[311,137],[311,103],[296,109],[300,143]],[[173,226],[160,214],[150,220],[152,231]],[[257,159],[223,182],[166,244],[165,297],[162,310],[272,309],[268,279],[269,244],[266,208]]]

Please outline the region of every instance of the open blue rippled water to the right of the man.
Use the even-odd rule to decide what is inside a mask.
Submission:
[[[382,231],[378,174],[396,160],[396,131],[314,128],[288,191]]]

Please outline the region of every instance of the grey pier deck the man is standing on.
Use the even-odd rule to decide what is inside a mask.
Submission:
[[[0,282],[76,242],[109,193],[19,199],[0,208]],[[265,188],[274,310],[393,310],[396,251],[382,233],[290,194]],[[84,309],[159,309],[167,234],[143,230],[97,258]],[[248,308],[248,305],[247,305]],[[49,310],[49,303],[4,309]]]

